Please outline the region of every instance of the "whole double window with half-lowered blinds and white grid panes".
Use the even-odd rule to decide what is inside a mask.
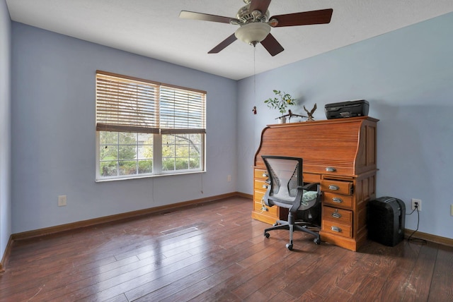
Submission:
[[[205,171],[206,92],[96,72],[96,179]]]

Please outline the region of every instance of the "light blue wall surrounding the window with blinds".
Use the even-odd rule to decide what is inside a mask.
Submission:
[[[12,41],[13,233],[236,191],[236,81],[21,23]],[[96,183],[97,69],[206,90],[207,172]]]

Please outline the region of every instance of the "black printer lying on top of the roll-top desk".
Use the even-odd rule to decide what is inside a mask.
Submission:
[[[340,103],[326,104],[327,119],[340,119],[343,117],[367,116],[369,103],[365,99],[357,99],[355,101],[347,101]]]

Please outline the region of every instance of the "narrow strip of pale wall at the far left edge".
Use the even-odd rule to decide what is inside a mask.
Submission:
[[[11,19],[0,0],[0,260],[11,236]]]

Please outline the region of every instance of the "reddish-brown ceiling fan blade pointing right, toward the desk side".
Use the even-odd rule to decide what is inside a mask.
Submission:
[[[269,20],[275,18],[278,20],[275,28],[283,26],[326,24],[331,22],[333,9],[321,9],[319,11],[304,11],[302,13],[288,13],[287,15],[272,16]]]

